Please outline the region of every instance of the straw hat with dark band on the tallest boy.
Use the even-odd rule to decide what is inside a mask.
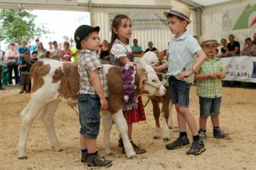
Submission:
[[[191,11],[185,5],[177,4],[173,6],[169,12],[164,11],[165,16],[168,16],[169,13],[175,16],[179,16],[185,19],[186,21],[188,21],[188,23],[191,23],[191,20],[190,20]]]

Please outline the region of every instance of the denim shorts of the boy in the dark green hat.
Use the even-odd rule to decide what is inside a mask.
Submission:
[[[97,94],[78,94],[80,134],[96,139],[100,132],[100,98]]]

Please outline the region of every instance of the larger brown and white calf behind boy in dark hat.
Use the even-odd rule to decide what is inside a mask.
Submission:
[[[119,133],[122,135],[127,157],[136,154],[129,142],[127,135],[127,121],[122,113],[122,69],[110,64],[103,65],[103,74],[107,78],[109,96],[107,98],[108,110],[102,113],[102,124],[104,128],[103,148],[106,154],[110,154],[110,130],[112,120]],[[21,129],[18,142],[18,158],[26,159],[26,142],[28,132],[33,120],[40,113],[43,124],[50,138],[50,143],[56,151],[62,151],[55,134],[53,115],[60,101],[66,101],[70,106],[77,104],[79,91],[78,67],[71,62],[58,62],[57,60],[39,60],[31,67],[31,79],[33,80],[31,100],[21,112]],[[135,77],[137,95],[163,96],[166,89],[152,67],[146,66],[137,69]]]

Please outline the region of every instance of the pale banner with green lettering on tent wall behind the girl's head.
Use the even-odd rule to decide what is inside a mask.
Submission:
[[[163,11],[122,11],[109,12],[110,30],[114,16],[127,15],[132,19],[132,30],[168,30],[166,16]]]

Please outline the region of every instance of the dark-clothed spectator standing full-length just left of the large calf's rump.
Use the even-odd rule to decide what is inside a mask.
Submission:
[[[24,86],[26,85],[26,93],[29,93],[28,86],[30,84],[30,69],[31,69],[31,62],[30,62],[30,54],[24,54],[24,60],[21,64],[18,65],[21,71],[21,91],[19,94],[23,93]]]

